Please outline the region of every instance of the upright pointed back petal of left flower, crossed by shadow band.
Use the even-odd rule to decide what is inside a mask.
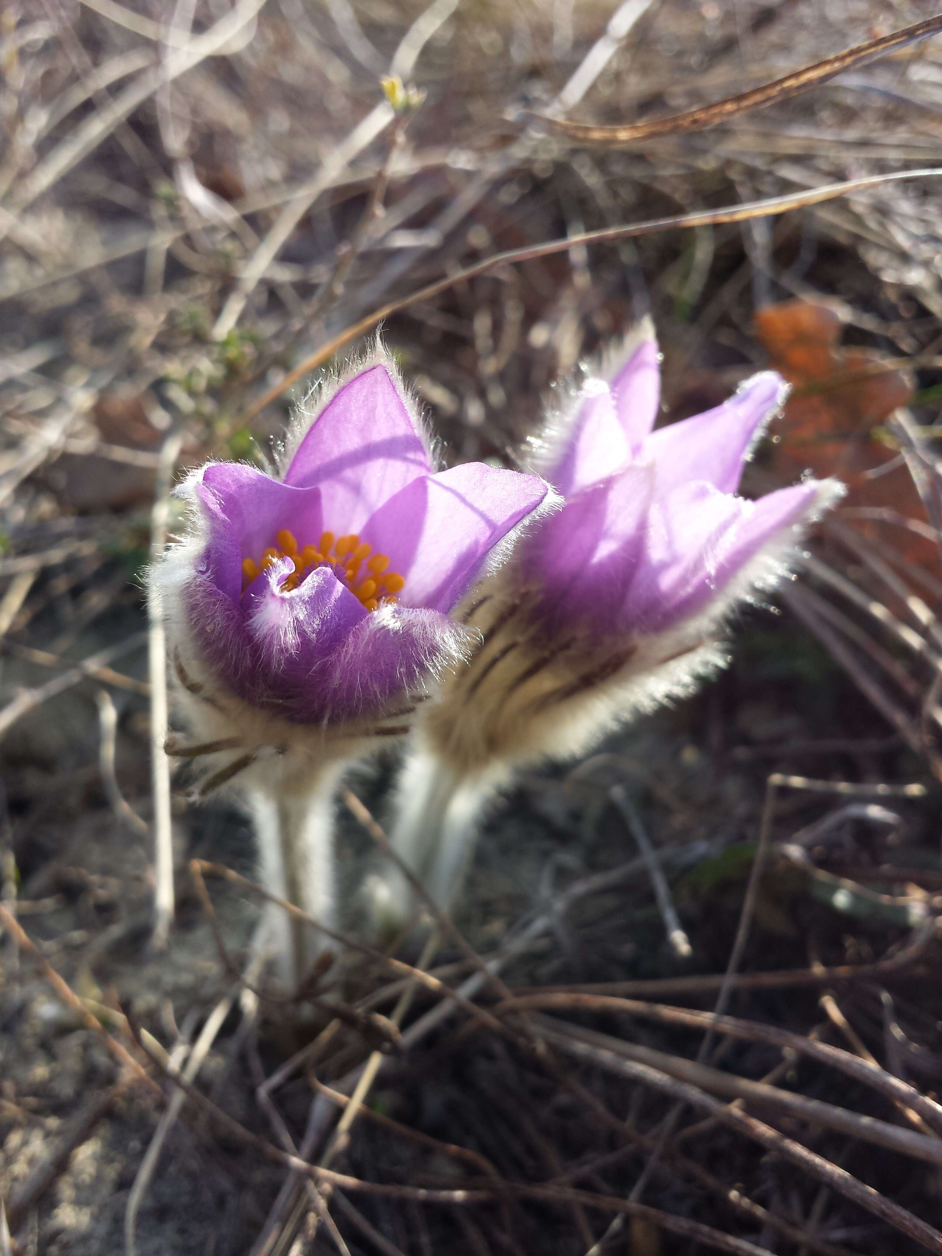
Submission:
[[[324,526],[359,533],[383,502],[428,475],[428,453],[392,376],[360,372],[328,402],[285,472],[294,487],[320,486]]]

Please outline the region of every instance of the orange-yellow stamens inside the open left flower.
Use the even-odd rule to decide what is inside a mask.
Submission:
[[[386,554],[373,554],[372,546],[354,534],[334,538],[333,533],[323,533],[317,545],[299,548],[294,533],[283,528],[275,541],[278,544],[270,545],[257,563],[252,558],[242,559],[242,592],[283,558],[294,563],[294,571],[283,584],[284,589],[296,589],[314,568],[329,566],[367,610],[376,610],[383,602],[398,602],[396,594],[406,585],[397,571],[387,570],[389,559]]]

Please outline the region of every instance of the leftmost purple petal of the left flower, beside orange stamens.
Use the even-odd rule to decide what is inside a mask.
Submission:
[[[317,544],[323,526],[320,490],[291,489],[239,462],[211,462],[196,484],[208,541],[198,560],[203,574],[235,604],[242,589],[242,559],[257,563],[281,528],[301,546]]]

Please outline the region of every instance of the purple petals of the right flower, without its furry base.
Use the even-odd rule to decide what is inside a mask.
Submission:
[[[736,496],[750,451],[780,409],[775,372],[747,379],[715,409],[653,431],[658,350],[646,320],[608,378],[593,377],[541,456],[565,505],[524,544],[526,583],[548,624],[595,637],[708,629],[781,574],[795,528],[843,487],[806,480],[757,501]]]

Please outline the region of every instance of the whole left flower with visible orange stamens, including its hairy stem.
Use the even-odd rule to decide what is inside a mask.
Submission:
[[[377,350],[305,407],[279,474],[211,462],[180,492],[187,531],[154,579],[202,741],[172,749],[210,756],[207,786],[249,788],[269,889],[330,924],[335,777],[407,731],[467,648],[448,612],[549,487],[482,463],[436,471]]]

